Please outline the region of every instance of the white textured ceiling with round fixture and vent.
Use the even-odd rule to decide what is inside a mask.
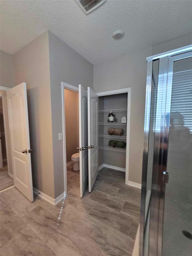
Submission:
[[[107,0],[88,15],[74,0],[1,1],[1,50],[14,54],[48,29],[96,64],[191,33],[192,1]]]

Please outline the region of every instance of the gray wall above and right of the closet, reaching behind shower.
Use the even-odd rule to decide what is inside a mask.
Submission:
[[[94,65],[93,88],[95,92],[131,87],[129,180],[132,182],[141,183],[146,57],[189,44],[192,44],[192,34]]]

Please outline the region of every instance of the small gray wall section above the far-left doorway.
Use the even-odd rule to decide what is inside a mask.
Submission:
[[[0,86],[14,86],[13,55],[0,51]]]

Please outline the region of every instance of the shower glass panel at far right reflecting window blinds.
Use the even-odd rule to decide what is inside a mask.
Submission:
[[[174,62],[163,256],[192,254],[192,58]],[[189,233],[186,233],[187,231]],[[188,236],[188,238],[187,238]]]

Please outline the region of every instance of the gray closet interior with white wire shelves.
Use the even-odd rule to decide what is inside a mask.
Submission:
[[[127,141],[127,123],[122,123],[122,117],[127,117],[127,93],[99,97],[99,166],[107,164],[120,167],[126,166],[126,148],[109,146],[110,140]],[[118,122],[107,122],[108,114],[113,112]],[[110,135],[108,128],[122,128],[123,135]]]

